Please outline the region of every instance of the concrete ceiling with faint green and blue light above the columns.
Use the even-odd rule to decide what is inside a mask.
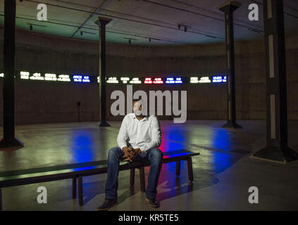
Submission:
[[[17,1],[17,29],[78,39],[98,39],[98,16],[113,18],[106,27],[108,42],[138,45],[208,44],[223,42],[223,13],[217,7],[226,0],[23,0]],[[263,39],[263,6],[259,21],[249,21],[248,6],[262,0],[242,0],[235,11],[235,41]],[[47,4],[48,20],[37,20],[37,4]],[[285,0],[286,36],[298,34],[297,0]],[[102,5],[102,6],[101,6]],[[92,13],[97,10],[93,16]],[[4,24],[4,0],[0,0]],[[87,21],[87,22],[86,22]],[[85,23],[86,22],[86,23]],[[178,28],[178,24],[182,25]],[[82,26],[83,25],[83,26]],[[82,26],[79,30],[78,28]],[[187,32],[184,32],[187,26]],[[76,32],[77,31],[77,32]],[[81,35],[82,32],[82,35]],[[151,41],[149,41],[149,38]]]

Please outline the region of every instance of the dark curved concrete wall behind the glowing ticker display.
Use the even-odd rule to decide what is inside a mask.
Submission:
[[[1,30],[1,39],[3,30]],[[17,32],[15,70],[54,72],[57,74],[98,74],[98,44],[95,41],[51,37],[44,34]],[[287,38],[287,97],[290,120],[298,119],[298,77],[296,71],[298,38]],[[2,50],[1,40],[1,51]],[[262,41],[236,43],[237,119],[266,118],[265,63]],[[3,71],[3,55],[0,56]],[[214,75],[225,72],[225,45],[206,46],[130,46],[107,44],[107,74],[139,76]],[[0,88],[2,89],[0,79]],[[149,91],[187,90],[187,119],[225,119],[225,84],[182,84],[175,86],[134,87]],[[107,96],[115,89],[125,92],[124,85],[108,84]],[[16,124],[71,122],[79,119],[77,101],[81,102],[80,120],[99,120],[97,84],[65,84],[15,80]],[[112,101],[108,100],[108,109]],[[2,91],[0,113],[2,117]],[[120,120],[108,112],[108,120]],[[168,118],[168,117],[161,117]],[[0,118],[1,119],[1,118]],[[2,119],[0,120],[2,123]]]

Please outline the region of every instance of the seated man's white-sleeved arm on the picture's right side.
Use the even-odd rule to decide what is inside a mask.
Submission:
[[[161,146],[161,125],[157,117],[154,117],[150,124],[151,128],[151,141],[146,145],[140,147],[142,153],[146,152],[150,148],[159,148]]]

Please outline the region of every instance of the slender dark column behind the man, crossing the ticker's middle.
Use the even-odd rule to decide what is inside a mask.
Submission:
[[[111,21],[99,17],[95,23],[99,25],[99,98],[101,123],[99,127],[110,127],[106,122],[106,25]]]

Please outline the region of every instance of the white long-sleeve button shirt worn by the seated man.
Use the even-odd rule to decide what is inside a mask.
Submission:
[[[128,143],[126,142],[128,141]],[[123,118],[119,134],[117,137],[118,146],[132,146],[139,148],[142,153],[146,153],[150,148],[161,146],[161,125],[154,115],[137,120],[134,113],[129,113]]]

